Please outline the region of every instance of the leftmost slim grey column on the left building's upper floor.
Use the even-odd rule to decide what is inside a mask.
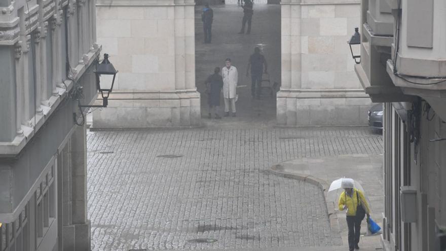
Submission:
[[[14,45],[16,58],[16,127],[17,134],[23,135],[22,130],[22,110],[23,110],[23,59],[22,41]]]

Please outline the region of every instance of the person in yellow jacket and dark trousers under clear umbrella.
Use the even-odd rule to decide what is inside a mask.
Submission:
[[[370,217],[370,209],[363,192],[355,188],[351,178],[344,178],[341,184],[344,192],[339,196],[339,210],[347,213],[349,251],[358,250],[361,222],[365,214]]]

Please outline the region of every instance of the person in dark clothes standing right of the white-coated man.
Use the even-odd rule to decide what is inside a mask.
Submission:
[[[265,74],[268,74],[268,64],[265,57],[260,54],[260,48],[255,47],[254,53],[249,57],[248,67],[246,68],[246,77],[249,75],[251,69],[251,97],[260,97],[262,87],[262,75],[264,73],[263,66],[265,65]],[[256,90],[257,89],[257,90]]]

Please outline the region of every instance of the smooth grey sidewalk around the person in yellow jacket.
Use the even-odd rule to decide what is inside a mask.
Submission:
[[[331,181],[350,177],[358,181],[370,200],[371,218],[382,225],[384,208],[382,155],[340,155],[323,158],[303,158],[286,161],[271,167],[271,172],[320,186],[326,195]],[[343,246],[302,248],[297,250],[348,250],[345,213],[337,210],[337,203],[327,201],[328,215],[333,231],[340,231]],[[362,222],[360,250],[381,250],[380,236],[364,236],[366,222]],[[286,249],[284,249],[286,250]],[[296,249],[294,249],[296,250]]]

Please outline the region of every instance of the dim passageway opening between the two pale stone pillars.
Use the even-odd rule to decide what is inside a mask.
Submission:
[[[195,58],[196,83],[201,93],[202,124],[231,125],[238,123],[254,123],[268,125],[276,119],[276,93],[263,88],[261,97],[251,97],[251,76],[246,75],[249,56],[255,47],[261,48],[268,63],[268,75],[264,75],[263,86],[272,87],[274,82],[280,83],[280,5],[254,4],[252,28],[250,34],[238,34],[240,31],[243,9],[238,5],[211,5],[214,12],[212,25],[212,43],[204,43],[203,23],[201,21],[202,5],[195,7]],[[236,102],[237,117],[223,120],[208,119],[208,94],[204,82],[213,73],[214,67],[224,67],[225,59],[231,58],[239,73]],[[269,80],[266,81],[266,80]],[[220,113],[223,114],[224,100],[220,100]]]

